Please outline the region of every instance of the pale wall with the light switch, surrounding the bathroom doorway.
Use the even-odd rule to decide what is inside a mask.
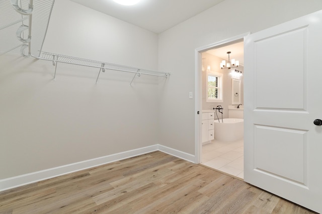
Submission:
[[[321,9],[319,0],[226,0],[159,34],[159,69],[172,72],[160,90],[160,144],[195,154],[195,49]]]

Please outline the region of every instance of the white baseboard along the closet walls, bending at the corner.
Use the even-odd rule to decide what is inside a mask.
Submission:
[[[50,169],[45,169],[41,171],[36,171],[28,174],[23,174],[15,177],[9,177],[6,179],[0,180],[0,191],[7,189],[12,189],[15,187],[23,186],[26,184],[34,183],[37,181],[49,179],[52,177],[57,177],[63,174],[68,174],[75,171],[80,171],[87,168],[92,168],[95,166],[103,165],[106,163],[114,162],[117,160],[126,159],[129,157],[134,157],[141,154],[146,154],[152,151],[162,151],[167,154],[182,158],[184,160],[194,162],[195,155],[188,154],[167,146],[155,144],[152,146],[142,147],[138,149],[133,149],[125,152],[120,152],[116,154],[111,154],[103,157],[98,157],[90,160],[85,160],[81,162],[71,163],[63,166],[58,166]]]

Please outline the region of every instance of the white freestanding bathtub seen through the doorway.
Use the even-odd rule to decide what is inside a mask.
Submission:
[[[220,121],[220,122],[219,122]],[[241,140],[244,137],[244,119],[225,118],[215,119],[215,139],[220,141]]]

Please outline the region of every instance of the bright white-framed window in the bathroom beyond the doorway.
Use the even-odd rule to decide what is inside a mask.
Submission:
[[[222,100],[222,74],[207,73],[207,102],[223,102]]]

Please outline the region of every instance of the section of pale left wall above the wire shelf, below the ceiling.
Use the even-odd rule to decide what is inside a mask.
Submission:
[[[157,70],[157,34],[56,0],[43,51]]]

